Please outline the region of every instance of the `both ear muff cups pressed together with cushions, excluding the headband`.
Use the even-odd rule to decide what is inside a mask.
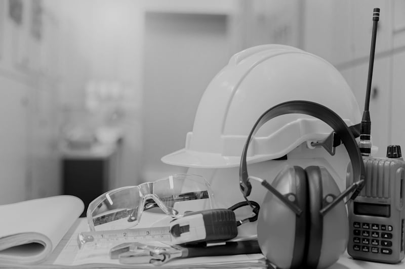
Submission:
[[[295,215],[271,192],[266,194],[257,225],[258,234],[266,235],[258,237],[265,256],[279,268],[326,268],[336,262],[347,245],[348,223],[343,201],[326,216],[320,214],[323,196],[339,194],[327,169],[286,166],[272,185],[294,193],[302,213]]]

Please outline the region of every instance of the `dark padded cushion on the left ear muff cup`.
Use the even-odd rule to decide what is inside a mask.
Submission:
[[[300,268],[306,257],[306,242],[308,236],[308,180],[305,170],[302,167],[294,166],[296,201],[301,208],[301,216],[295,218],[295,241],[293,260],[291,268]]]

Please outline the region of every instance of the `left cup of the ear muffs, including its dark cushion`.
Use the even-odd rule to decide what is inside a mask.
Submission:
[[[257,233],[262,235],[258,236],[260,249],[279,268],[301,268],[306,257],[309,214],[306,173],[301,167],[286,166],[272,185],[279,191],[294,193],[302,213],[297,216],[280,199],[267,192],[257,223]]]

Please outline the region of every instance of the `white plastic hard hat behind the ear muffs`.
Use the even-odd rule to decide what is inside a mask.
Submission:
[[[270,107],[309,100],[329,107],[348,126],[361,121],[357,101],[342,75],[327,61],[286,45],[260,45],[234,55],[208,85],[185,148],[164,156],[170,165],[230,168],[256,120]],[[332,129],[305,115],[283,115],[266,123],[252,140],[248,164],[286,155]]]

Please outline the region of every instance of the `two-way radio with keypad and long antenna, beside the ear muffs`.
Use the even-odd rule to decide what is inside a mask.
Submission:
[[[388,146],[386,158],[371,156],[369,103],[379,16],[380,9],[374,9],[365,111],[360,124],[358,143],[366,168],[366,184],[359,195],[349,201],[347,252],[355,259],[397,263],[405,256],[405,162],[400,146]],[[347,186],[352,182],[349,164]]]

